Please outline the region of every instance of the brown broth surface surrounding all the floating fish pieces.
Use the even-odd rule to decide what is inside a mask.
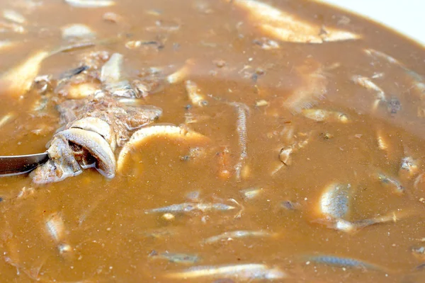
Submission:
[[[0,71],[16,66],[30,52],[63,45],[60,27],[70,23],[88,25],[98,38],[119,35],[118,40],[53,55],[42,62],[38,74],[57,78],[77,67],[81,54],[95,50],[123,54],[131,78],[149,67],[164,67],[164,72],[171,74],[187,59],[193,59],[187,79],[196,82],[208,105],[193,105],[187,110],[191,100],[183,81],[165,83],[157,93],[140,100],[162,108],[158,123],[181,125],[185,114],[191,113],[198,122],[186,126],[210,141],[149,139],[131,151],[123,172],[111,180],[94,169],[47,185],[31,183],[28,175],[1,178],[2,282],[183,282],[164,275],[196,265],[243,263],[265,264],[288,273],[287,279],[276,282],[424,282],[424,269],[415,271],[424,261],[414,257],[411,250],[415,245],[425,247],[421,242],[425,238],[425,200],[421,199],[425,198],[425,183],[414,185],[414,180],[425,173],[425,123],[417,115],[424,105],[424,93],[414,88],[402,69],[363,52],[385,52],[425,76],[423,47],[364,18],[313,1],[271,4],[309,23],[350,30],[363,38],[317,45],[279,41],[261,32],[246,11],[229,1],[121,0],[104,8],[72,8],[64,1],[42,1],[28,12],[16,8],[21,2],[0,4],[1,9],[20,11],[28,21],[25,34],[0,34],[19,42],[1,51]],[[106,22],[106,12],[114,12],[122,20]],[[341,23],[344,18],[349,18],[349,23]],[[168,26],[179,24],[179,29],[152,31],[154,28],[148,27],[155,27],[156,21]],[[280,48],[261,49],[253,43],[261,37],[276,40]],[[159,49],[125,47],[129,40],[158,39],[163,42]],[[217,67],[217,60],[225,66]],[[339,67],[332,69],[335,63]],[[324,68],[327,91],[313,108],[343,112],[349,123],[316,122],[283,106],[294,91],[311,83],[306,74],[318,67]],[[371,110],[373,91],[350,80],[353,75],[370,77],[375,73],[383,77],[372,80],[388,99],[396,98],[401,105],[394,115],[382,103]],[[55,96],[57,93],[50,99]],[[34,91],[24,93],[21,100],[8,93],[2,96],[0,117],[11,111],[18,116],[0,128],[0,155],[45,151],[45,144],[61,125],[55,107],[48,108],[45,116],[35,115],[32,106],[38,99],[40,95]],[[249,107],[247,157],[241,180],[234,172],[240,151],[237,110],[224,100]],[[256,106],[260,100],[268,105]],[[295,141],[308,139],[308,143],[293,152],[291,164],[285,166],[278,156],[280,149],[290,145],[284,137],[290,127],[295,130]],[[36,134],[34,129],[43,131]],[[387,142],[386,150],[379,149],[378,132]],[[330,138],[324,138],[324,134]],[[184,160],[194,146],[203,149],[203,155]],[[222,165],[220,152],[224,146],[229,154]],[[405,192],[397,195],[373,173],[382,171],[399,178],[404,151],[419,161],[419,168],[409,180],[400,179]],[[119,149],[115,154],[118,156]],[[222,166],[229,168],[229,178],[220,177]],[[282,168],[272,174],[279,166]],[[320,196],[332,182],[353,187],[348,221],[390,212],[412,214],[355,233],[329,229],[316,220],[323,218],[318,212]],[[240,191],[250,187],[262,190],[246,200]],[[236,208],[175,214],[172,220],[145,213],[146,209],[191,202],[186,195],[194,191],[200,192],[201,203],[220,202]],[[240,217],[240,207],[230,199],[244,208]],[[294,210],[281,206],[288,200],[297,204]],[[46,229],[46,219],[52,214],[63,219],[60,241]],[[261,230],[278,236],[202,243],[211,236],[236,230]],[[60,255],[58,242],[69,244],[71,255]],[[198,255],[200,260],[181,265],[149,257],[152,250]],[[317,254],[364,260],[384,270],[328,266],[302,258]],[[221,278],[227,276],[184,282],[215,282]]]

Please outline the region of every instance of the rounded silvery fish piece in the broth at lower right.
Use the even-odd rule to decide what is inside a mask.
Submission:
[[[320,197],[320,212],[331,219],[344,219],[350,211],[351,194],[350,184],[328,185]]]

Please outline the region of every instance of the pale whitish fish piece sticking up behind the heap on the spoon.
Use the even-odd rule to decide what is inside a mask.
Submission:
[[[122,54],[114,53],[101,70],[101,82],[108,93],[113,96],[135,98],[136,92],[130,82],[124,79]]]

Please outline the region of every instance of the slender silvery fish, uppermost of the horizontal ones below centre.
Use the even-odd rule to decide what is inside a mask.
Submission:
[[[183,213],[183,212],[208,212],[208,211],[227,211],[236,209],[227,204],[222,203],[196,203],[196,202],[184,202],[182,204],[171,204],[167,207],[159,207],[154,209],[145,210],[145,214],[152,213]]]

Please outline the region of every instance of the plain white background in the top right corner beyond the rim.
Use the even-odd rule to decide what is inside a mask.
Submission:
[[[383,23],[425,45],[425,0],[319,0]]]

